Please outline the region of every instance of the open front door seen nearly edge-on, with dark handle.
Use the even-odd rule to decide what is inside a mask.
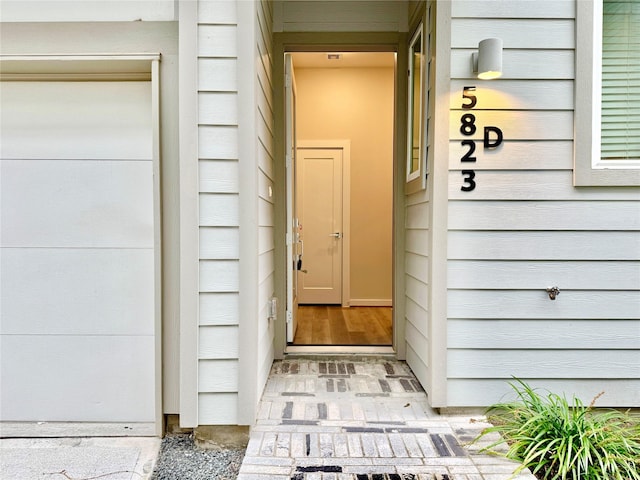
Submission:
[[[296,334],[298,311],[298,276],[301,262],[300,235],[296,212],[296,84],[293,61],[285,55],[285,155],[287,190],[287,342],[293,342]]]

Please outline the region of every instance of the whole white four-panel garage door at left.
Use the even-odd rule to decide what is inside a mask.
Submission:
[[[0,82],[0,416],[155,420],[151,82]]]

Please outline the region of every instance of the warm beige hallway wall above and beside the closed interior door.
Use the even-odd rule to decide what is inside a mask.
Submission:
[[[392,298],[393,68],[297,68],[298,140],[351,141],[351,301]]]

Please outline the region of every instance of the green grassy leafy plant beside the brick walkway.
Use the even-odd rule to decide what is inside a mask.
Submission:
[[[493,405],[487,416],[500,440],[481,451],[521,462],[544,480],[640,480],[640,423],[628,412],[594,409],[574,398],[545,397],[521,380],[510,383],[519,401]],[[507,443],[506,452],[494,448]]]

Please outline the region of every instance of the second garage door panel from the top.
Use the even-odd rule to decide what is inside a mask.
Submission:
[[[152,248],[151,161],[0,162],[5,247]]]

